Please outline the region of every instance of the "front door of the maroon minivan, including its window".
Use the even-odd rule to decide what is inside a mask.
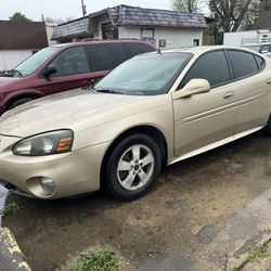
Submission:
[[[83,47],[75,47],[61,52],[50,64],[56,73],[47,83],[47,94],[87,87],[95,77],[93,67],[88,62]]]

